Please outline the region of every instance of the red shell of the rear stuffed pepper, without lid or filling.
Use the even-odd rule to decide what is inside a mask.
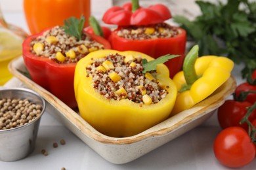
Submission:
[[[181,33],[169,39],[129,40],[119,37],[117,35],[119,28],[117,28],[112,31],[110,42],[114,50],[133,50],[148,54],[148,56],[152,58],[158,58],[166,54],[181,55],[165,62],[165,65],[169,68],[170,77],[173,78],[173,76],[182,69],[186,50],[186,31],[179,27],[178,29]]]

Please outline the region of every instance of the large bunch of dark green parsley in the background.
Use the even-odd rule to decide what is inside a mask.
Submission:
[[[248,0],[220,1],[216,4],[196,1],[202,14],[193,21],[174,16],[195,44],[199,56],[227,56],[235,63],[245,63],[243,77],[256,69],[256,2]],[[221,43],[220,43],[221,42]]]

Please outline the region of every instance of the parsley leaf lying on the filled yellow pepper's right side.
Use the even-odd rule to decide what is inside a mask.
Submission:
[[[156,70],[158,64],[165,63],[169,59],[177,58],[179,56],[180,55],[167,54],[165,56],[161,56],[161,57],[153,59],[151,61],[148,61],[148,60],[143,58],[142,59],[142,67],[144,68],[144,70],[142,71],[142,73],[146,73],[146,72],[149,72],[149,71],[154,71],[154,70]]]

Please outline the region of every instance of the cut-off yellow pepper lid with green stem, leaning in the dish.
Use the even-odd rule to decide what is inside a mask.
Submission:
[[[171,115],[190,109],[199,103],[230,77],[234,67],[231,59],[220,56],[198,58],[198,45],[188,52],[183,63],[183,71],[173,77],[178,90]]]

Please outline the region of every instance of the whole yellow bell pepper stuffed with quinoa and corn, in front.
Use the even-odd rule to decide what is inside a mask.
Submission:
[[[142,67],[150,61],[156,59],[116,50],[91,52],[79,60],[74,88],[81,117],[111,137],[136,135],[168,118],[177,88],[163,63],[155,71]]]

